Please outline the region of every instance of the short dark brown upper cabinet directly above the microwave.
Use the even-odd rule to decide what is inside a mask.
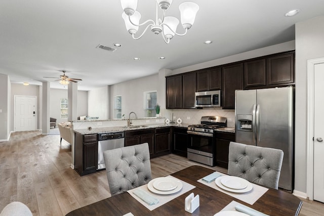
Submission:
[[[197,92],[221,90],[222,70],[220,67],[197,71]]]

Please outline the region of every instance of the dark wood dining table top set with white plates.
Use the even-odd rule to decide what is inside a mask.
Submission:
[[[130,212],[135,216],[214,215],[229,205],[232,201],[268,215],[288,216],[299,214],[302,201],[298,197],[286,191],[267,188],[266,192],[251,205],[219,190],[215,190],[206,184],[198,182],[198,180],[212,174],[213,172],[215,172],[215,170],[199,165],[193,165],[171,174],[172,177],[188,183],[194,186],[194,188],[155,208],[154,210],[149,210],[132,197],[130,193],[124,192],[90,205],[80,207],[66,215],[124,215]],[[210,184],[215,184],[215,181]],[[195,196],[199,195],[199,206],[192,213],[189,213],[188,211],[185,211],[185,198],[191,193]]]

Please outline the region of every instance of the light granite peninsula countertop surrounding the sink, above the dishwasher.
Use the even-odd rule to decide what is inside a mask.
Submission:
[[[112,133],[112,132],[123,132],[123,131],[132,131],[136,129],[148,129],[148,128],[156,128],[156,127],[166,127],[166,126],[178,126],[178,127],[188,127],[189,124],[186,123],[158,123],[158,124],[145,124],[141,127],[136,127],[134,125],[133,127],[127,127],[127,126],[112,126],[112,127],[95,127],[87,129],[73,129],[73,132],[87,135],[87,134],[103,134],[103,133]]]

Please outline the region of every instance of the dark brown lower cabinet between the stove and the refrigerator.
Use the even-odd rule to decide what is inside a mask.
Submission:
[[[235,141],[235,133],[216,132],[216,165],[228,167],[228,147],[231,141]]]

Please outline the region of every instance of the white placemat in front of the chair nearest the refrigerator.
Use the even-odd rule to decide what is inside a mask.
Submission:
[[[217,172],[219,174],[222,174],[221,172]],[[227,176],[226,174],[222,174],[222,176]],[[250,205],[253,205],[263,194],[265,194],[265,192],[267,192],[269,189],[262,187],[260,185],[256,185],[253,184],[253,189],[249,192],[246,193],[233,193],[233,192],[229,192],[229,191],[225,191],[223,189],[221,189],[220,187],[218,187],[215,183],[215,181],[211,182],[211,183],[206,183],[204,182],[202,179],[199,179],[197,182],[200,182],[201,184],[207,185],[211,188],[214,188],[218,191],[221,191],[227,195],[230,195],[232,197],[235,197],[236,199],[239,199],[243,202],[249,203]]]

